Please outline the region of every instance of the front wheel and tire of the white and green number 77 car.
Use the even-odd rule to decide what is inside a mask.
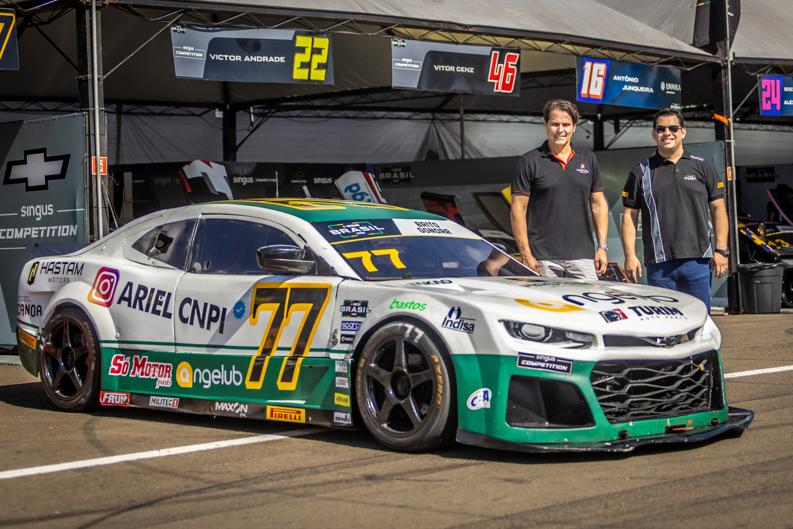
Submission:
[[[393,450],[434,450],[454,443],[454,369],[441,340],[418,321],[397,320],[366,341],[355,376],[363,423]]]

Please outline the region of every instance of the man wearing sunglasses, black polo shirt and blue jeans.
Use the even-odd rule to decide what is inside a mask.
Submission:
[[[727,270],[724,183],[707,159],[683,147],[683,125],[683,114],[677,110],[659,111],[653,119],[658,150],[628,174],[621,230],[625,273],[631,282],[642,277],[634,248],[641,210],[647,283],[698,297],[710,312],[711,271],[721,278]]]

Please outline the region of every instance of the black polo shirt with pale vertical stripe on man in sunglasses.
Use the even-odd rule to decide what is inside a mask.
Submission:
[[[672,163],[658,154],[628,174],[623,205],[642,210],[645,266],[672,259],[713,256],[708,202],[724,197],[713,165],[688,149]],[[624,219],[623,219],[624,221]]]

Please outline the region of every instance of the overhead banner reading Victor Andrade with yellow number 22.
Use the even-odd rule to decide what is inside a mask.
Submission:
[[[170,26],[177,77],[333,84],[330,33]]]

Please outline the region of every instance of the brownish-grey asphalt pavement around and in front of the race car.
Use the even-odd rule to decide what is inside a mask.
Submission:
[[[715,316],[726,374],[793,365],[793,314]],[[793,370],[726,381],[743,435],[630,454],[381,447],[366,431],[136,408],[66,413],[0,365],[0,473],[145,450],[236,447],[0,480],[0,527],[793,527]]]

